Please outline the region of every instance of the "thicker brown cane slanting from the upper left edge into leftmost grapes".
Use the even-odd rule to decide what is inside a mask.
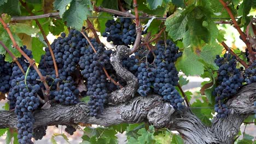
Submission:
[[[16,43],[16,41],[15,41],[15,39],[14,39],[14,37],[13,37],[13,34],[11,34],[9,25],[7,25],[7,23],[4,22],[4,20],[2,19],[2,17],[0,17],[0,22],[2,23],[2,25],[3,25],[4,29],[5,29],[5,31],[7,31],[7,33],[9,34],[9,37],[10,37],[11,41],[13,42],[13,47],[15,47],[15,48],[21,53],[21,55],[24,56],[24,57],[27,59],[27,61],[30,63],[30,65],[32,65],[32,67],[34,68],[34,70],[37,71],[37,74],[39,75],[40,80],[43,82],[44,87],[45,87],[45,89],[46,89],[46,95],[48,95],[49,92],[50,92],[50,87],[49,87],[48,84],[46,83],[45,77],[41,74],[40,70],[37,68],[37,65],[35,64],[34,59],[31,59],[30,57],[28,57],[27,54],[26,54],[24,51],[22,51],[22,50],[20,49],[20,47],[18,46],[18,44]],[[45,101],[48,101],[48,100],[49,100],[49,99],[48,99],[48,97],[47,97],[47,99],[45,99]]]

